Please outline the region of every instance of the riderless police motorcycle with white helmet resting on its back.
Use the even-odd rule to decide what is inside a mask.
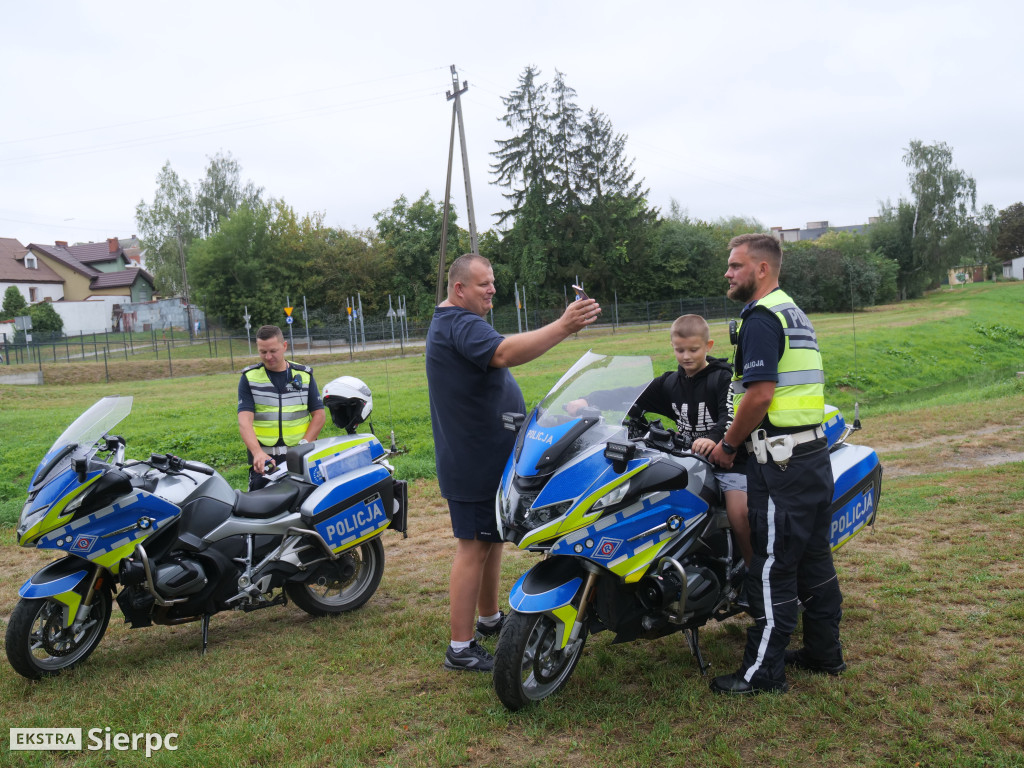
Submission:
[[[213,468],[168,454],[126,460],[112,430],[131,397],[103,397],[53,443],[29,484],[16,537],[62,555],[18,591],[7,625],[11,667],[27,678],[84,662],[113,600],[132,628],[202,622],[283,605],[314,616],[354,610],[384,571],[381,536],[406,534],[408,489],[373,434],[355,433],[370,389],[341,377],[324,388],[348,434],[288,450],[270,484],[234,490]]]

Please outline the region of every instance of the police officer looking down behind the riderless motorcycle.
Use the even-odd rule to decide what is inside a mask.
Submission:
[[[288,342],[276,326],[256,332],[260,362],[239,380],[239,433],[249,455],[249,489],[266,484],[268,459],[276,464],[289,445],[315,440],[327,417],[313,370],[285,359]]]

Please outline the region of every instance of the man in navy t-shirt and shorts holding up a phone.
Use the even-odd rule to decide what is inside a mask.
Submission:
[[[473,620],[479,608],[476,632],[495,636],[504,617],[498,608],[502,541],[495,494],[515,434],[503,428],[502,414],[525,411],[508,369],[540,357],[601,312],[593,299],[574,301],[554,323],[506,338],[483,319],[494,295],[490,262],[479,254],[460,256],[449,268],[447,299],[434,309],[427,332],[437,482],[457,540],[449,583],[449,670],[489,672],[495,660],[473,639]]]

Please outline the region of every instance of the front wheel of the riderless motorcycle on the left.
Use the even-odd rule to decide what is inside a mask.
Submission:
[[[113,600],[109,590],[95,592],[85,622],[63,626],[63,604],[52,598],[19,600],[7,625],[7,660],[29,678],[56,675],[81,664],[106,632]]]

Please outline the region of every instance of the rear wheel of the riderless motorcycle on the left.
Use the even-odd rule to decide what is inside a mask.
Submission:
[[[305,582],[288,582],[285,592],[302,610],[329,616],[355,610],[373,597],[384,575],[384,545],[371,539],[339,559],[321,563]]]

